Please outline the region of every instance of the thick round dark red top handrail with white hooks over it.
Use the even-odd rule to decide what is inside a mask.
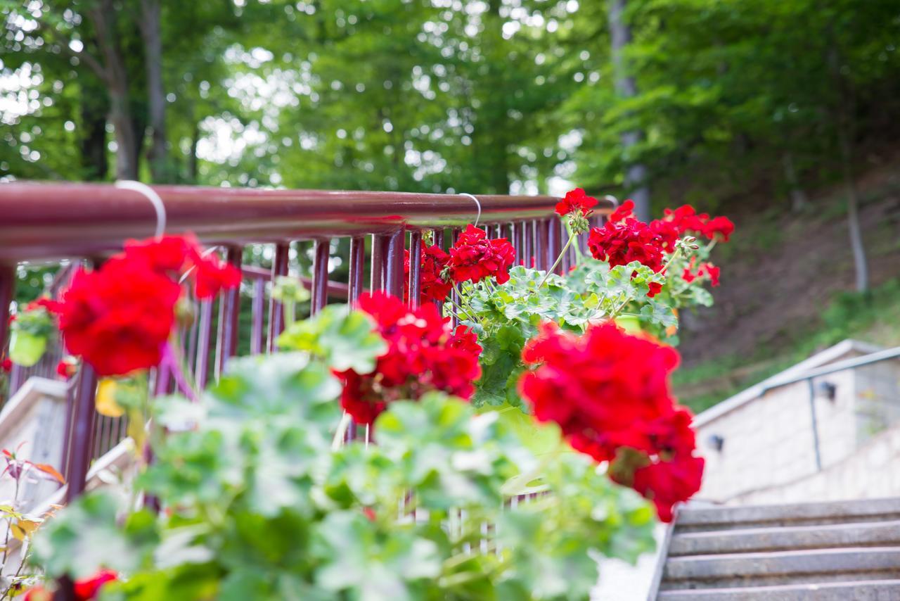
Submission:
[[[153,187],[166,206],[167,232],[194,232],[210,244],[459,227],[473,223],[468,196],[401,192]],[[478,196],[479,223],[546,218],[554,196]],[[600,212],[612,205],[605,202]],[[118,250],[148,238],[156,213],[139,192],[110,184],[0,185],[0,261],[59,259]]]

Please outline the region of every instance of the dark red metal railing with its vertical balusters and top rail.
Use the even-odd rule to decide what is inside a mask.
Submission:
[[[548,269],[563,247],[566,232],[554,215],[554,196],[477,196],[395,192],[338,192],[325,190],[261,190],[213,187],[159,186],[153,190],[165,207],[166,232],[193,232],[207,246],[218,246],[224,259],[242,268],[242,290],[232,290],[199,303],[193,325],[182,332],[183,351],[200,386],[216,378],[248,340],[251,353],[272,351],[284,327],[283,310],[266,298],[267,282],[291,271],[291,244],[312,241],[311,314],[330,297],[353,302],[368,287],[419,301],[419,264],[411,261],[404,279],[403,254],[418,256],[424,232],[445,248],[467,223],[485,227],[491,236],[505,236],[516,248],[518,263]],[[591,218],[601,223],[615,208],[602,199]],[[157,227],[157,212],[147,196],[104,184],[42,184],[14,182],[0,185],[0,348],[8,334],[14,299],[16,266],[21,262],[70,260],[97,264],[121,250],[124,241],[148,238]],[[347,281],[329,281],[331,241],[348,237]],[[581,248],[586,246],[581,236]],[[271,269],[243,266],[243,250],[250,244],[272,245]],[[366,260],[368,256],[369,260]],[[559,272],[575,260],[574,249]],[[366,269],[368,264],[368,269]],[[70,270],[69,270],[70,271]],[[61,274],[58,286],[65,285]],[[240,303],[248,298],[251,320],[238,323]],[[247,338],[245,338],[247,337]],[[31,375],[48,375],[54,358],[36,369],[16,369],[19,386]],[[99,416],[94,410],[96,377],[83,366],[70,386],[66,457],[67,500],[79,495],[91,460],[121,440],[121,418]],[[156,375],[154,392],[171,390],[167,378]]]

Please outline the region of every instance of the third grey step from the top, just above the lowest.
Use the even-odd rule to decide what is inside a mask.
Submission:
[[[662,573],[660,590],[770,587],[898,576],[898,547],[726,553],[669,559]]]

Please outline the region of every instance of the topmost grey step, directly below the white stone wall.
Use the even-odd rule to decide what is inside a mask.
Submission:
[[[900,498],[715,508],[688,506],[679,511],[675,533],[896,520],[900,520]]]

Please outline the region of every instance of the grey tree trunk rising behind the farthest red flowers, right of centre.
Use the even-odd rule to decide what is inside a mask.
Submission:
[[[619,96],[631,98],[637,96],[635,77],[628,75],[623,50],[631,41],[631,28],[625,22],[623,12],[626,0],[609,0],[609,34],[612,39],[613,68],[616,72],[616,91]],[[637,145],[644,138],[643,132],[626,132],[622,134],[623,154]],[[626,192],[635,201],[635,215],[641,221],[650,221],[650,188],[647,186],[647,168],[641,163],[628,166],[625,176]]]

